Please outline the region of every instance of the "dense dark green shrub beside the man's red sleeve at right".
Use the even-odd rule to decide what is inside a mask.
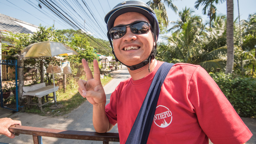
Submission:
[[[256,79],[234,74],[210,73],[241,117],[256,117]]]

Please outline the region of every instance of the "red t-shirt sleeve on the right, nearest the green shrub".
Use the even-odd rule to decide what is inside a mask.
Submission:
[[[252,137],[219,86],[202,67],[197,67],[191,77],[188,99],[202,130],[213,143],[244,143]]]

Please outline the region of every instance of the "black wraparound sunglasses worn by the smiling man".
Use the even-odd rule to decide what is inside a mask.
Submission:
[[[112,39],[121,38],[126,32],[126,26],[131,28],[134,34],[146,34],[149,31],[150,24],[147,21],[135,21],[128,25],[118,25],[110,29],[109,35]]]

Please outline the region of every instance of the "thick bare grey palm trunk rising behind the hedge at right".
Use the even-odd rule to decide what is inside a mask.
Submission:
[[[233,0],[227,0],[227,64],[226,74],[232,73],[234,65],[234,31]]]

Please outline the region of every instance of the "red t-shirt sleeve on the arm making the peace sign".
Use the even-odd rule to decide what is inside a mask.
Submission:
[[[106,112],[106,115],[108,116],[109,123],[113,125],[116,125],[117,123],[116,101],[117,101],[117,87],[110,96],[109,104],[107,104],[105,107],[105,112]]]

